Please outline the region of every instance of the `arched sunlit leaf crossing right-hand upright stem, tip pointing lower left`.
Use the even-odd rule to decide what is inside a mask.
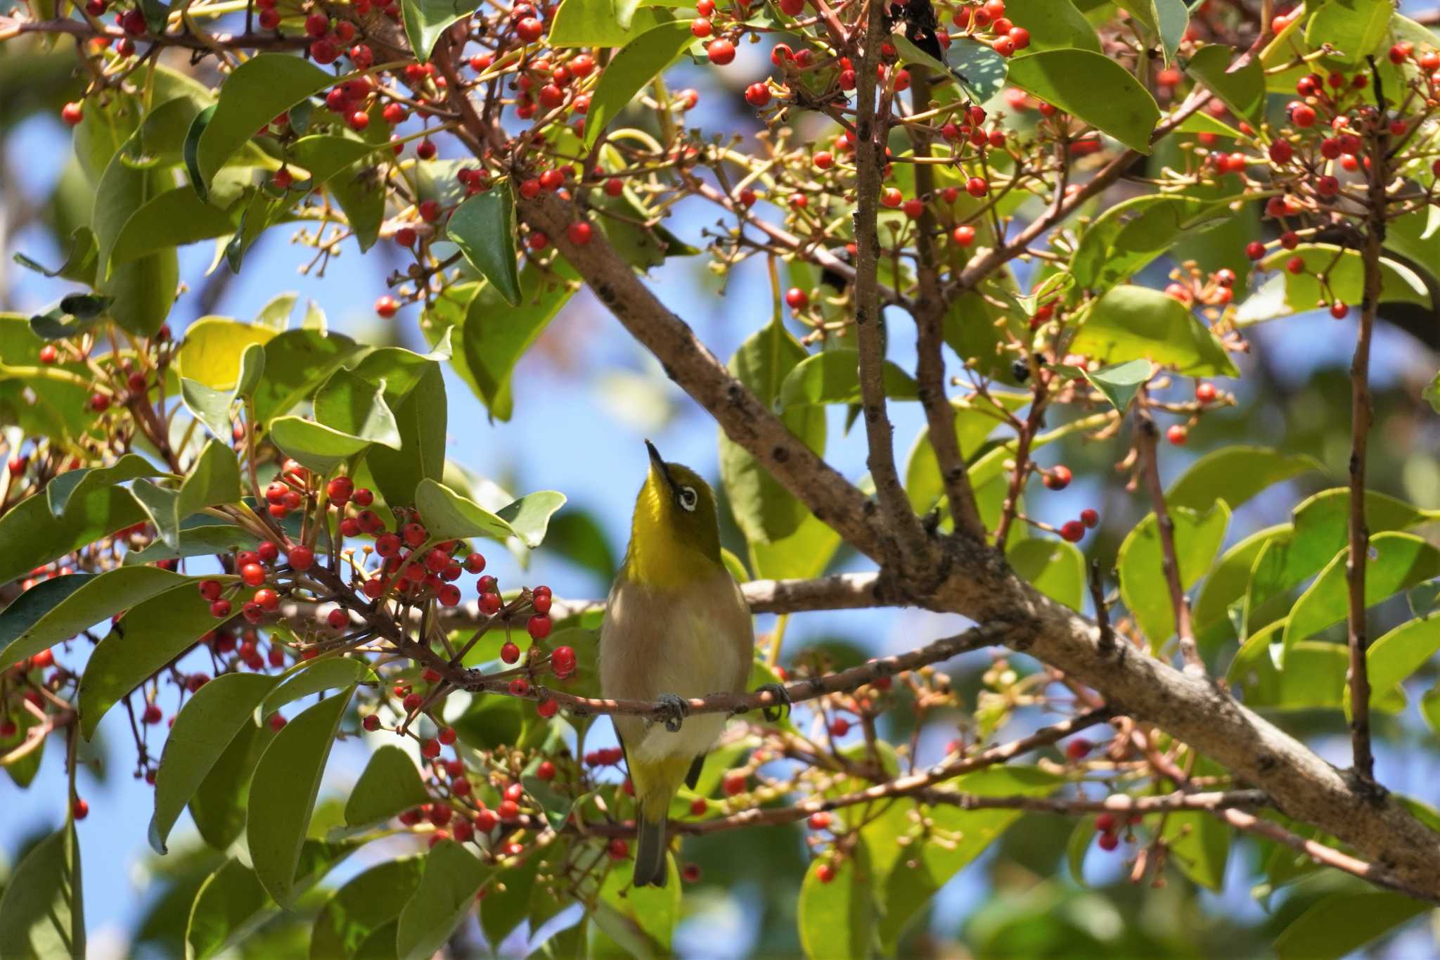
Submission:
[[[1345,619],[1349,609],[1349,592],[1345,583],[1348,554],[1348,547],[1335,554],[1315,583],[1290,607],[1290,619],[1284,628],[1286,648]],[[1404,533],[1375,534],[1369,538],[1369,557],[1365,566],[1365,606],[1371,607],[1437,574],[1440,574],[1440,550],[1421,537]]]

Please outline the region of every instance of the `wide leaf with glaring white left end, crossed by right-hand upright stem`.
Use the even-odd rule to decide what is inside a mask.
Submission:
[[[1292,258],[1299,258],[1305,263],[1303,272],[1292,273],[1286,269]],[[1237,327],[1302,314],[1332,299],[1355,305],[1365,296],[1365,265],[1358,250],[1345,250],[1329,243],[1302,243],[1293,250],[1277,250],[1261,261],[1260,266],[1282,273],[1267,279],[1236,308]],[[1329,281],[1328,294],[1320,289],[1322,271]],[[1430,308],[1426,282],[1408,266],[1381,258],[1380,276],[1382,304],[1417,304]]]

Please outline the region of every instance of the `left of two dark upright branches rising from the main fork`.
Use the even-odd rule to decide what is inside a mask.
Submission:
[[[910,95],[914,111],[929,109],[930,73],[923,66],[910,69]],[[910,142],[917,157],[930,155],[930,138],[917,128],[910,130]],[[950,504],[955,528],[969,533],[976,540],[985,538],[985,524],[975,505],[975,491],[971,475],[965,469],[965,452],[955,435],[955,407],[945,390],[945,315],[949,304],[940,284],[940,255],[936,249],[939,225],[930,203],[935,200],[935,171],[930,164],[916,164],[914,191],[924,201],[920,219],[916,222],[917,279],[920,301],[912,311],[916,325],[916,380],[920,384],[920,404],[929,426],[930,446],[940,469],[940,482]]]

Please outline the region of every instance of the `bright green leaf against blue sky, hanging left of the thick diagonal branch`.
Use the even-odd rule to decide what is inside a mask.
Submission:
[[[573,278],[573,271],[559,266],[562,278]],[[514,413],[511,377],[516,363],[544,332],[546,325],[569,302],[569,284],[554,284],[539,269],[527,266],[520,276],[520,307],[503,307],[494,286],[482,284],[465,309],[459,343],[455,344],[455,370],[469,383],[475,394],[497,420],[508,420]],[[464,363],[459,358],[464,357]]]

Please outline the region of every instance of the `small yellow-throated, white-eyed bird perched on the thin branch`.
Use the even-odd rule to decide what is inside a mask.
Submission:
[[[612,717],[635,787],[635,887],[664,887],[670,802],[694,787],[726,714],[688,717],[687,698],[743,692],[755,661],[755,626],[720,554],[710,485],[667,463],[645,440],[649,472],[635,498],[629,547],[600,625],[600,689],[648,699],[661,718]]]

